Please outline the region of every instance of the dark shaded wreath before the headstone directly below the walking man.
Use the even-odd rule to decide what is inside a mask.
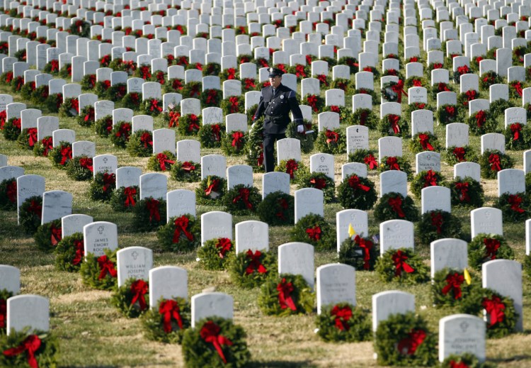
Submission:
[[[295,199],[290,194],[275,191],[258,204],[256,213],[260,221],[270,226],[292,224],[295,222]]]

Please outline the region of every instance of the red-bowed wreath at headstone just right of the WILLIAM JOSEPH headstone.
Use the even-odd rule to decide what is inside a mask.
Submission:
[[[161,297],[140,320],[144,336],[152,341],[181,344],[185,330],[191,325],[190,314],[190,303],[185,299]]]

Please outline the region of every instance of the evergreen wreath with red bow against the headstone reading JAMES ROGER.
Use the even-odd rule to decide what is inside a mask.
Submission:
[[[98,290],[112,290],[118,282],[118,271],[116,269],[117,250],[105,249],[104,255],[94,256],[92,253],[85,255],[84,262],[81,261],[79,274],[81,281],[86,286]]]

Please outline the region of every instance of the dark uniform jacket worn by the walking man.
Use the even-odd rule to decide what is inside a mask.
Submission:
[[[285,133],[287,124],[290,123],[290,111],[293,113],[295,123],[302,125],[302,112],[295,97],[295,91],[280,84],[273,96],[273,87],[265,87],[262,89],[253,121],[264,115],[264,133],[282,134]]]

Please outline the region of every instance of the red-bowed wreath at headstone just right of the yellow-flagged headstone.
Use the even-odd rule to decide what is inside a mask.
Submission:
[[[384,282],[418,284],[430,279],[430,272],[421,257],[411,248],[389,249],[379,257],[375,266]]]

